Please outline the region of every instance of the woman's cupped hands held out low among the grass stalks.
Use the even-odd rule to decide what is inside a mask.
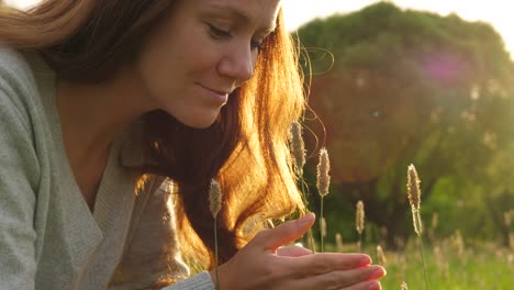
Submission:
[[[258,233],[232,259],[219,267],[222,290],[372,290],[380,289],[386,270],[370,265],[365,254],[311,254],[282,245],[301,237],[314,223],[314,214]],[[214,270],[211,270],[213,281]]]

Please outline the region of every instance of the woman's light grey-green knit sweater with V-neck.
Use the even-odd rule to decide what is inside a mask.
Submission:
[[[91,212],[64,148],[54,71],[0,47],[0,289],[149,289],[166,275],[183,279],[170,290],[214,289],[206,271],[187,278],[169,191],[136,192],[139,125],[112,144]]]

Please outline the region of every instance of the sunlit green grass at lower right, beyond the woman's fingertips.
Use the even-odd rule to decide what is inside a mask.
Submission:
[[[345,246],[345,252],[355,249]],[[368,245],[364,252],[378,261],[375,246]],[[409,244],[403,252],[384,252],[388,276],[381,279],[382,289],[400,290],[402,281],[410,290],[425,289],[418,245]],[[514,252],[492,244],[466,248],[450,241],[427,244],[425,266],[431,290],[506,290],[514,285]]]

